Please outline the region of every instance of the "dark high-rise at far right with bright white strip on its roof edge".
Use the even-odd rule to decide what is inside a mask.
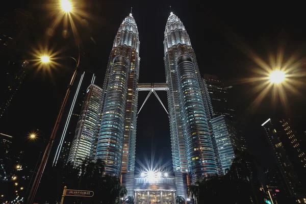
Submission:
[[[265,130],[274,162],[283,178],[288,196],[304,193],[301,180],[306,169],[306,155],[300,149],[289,118],[269,118],[262,126]]]

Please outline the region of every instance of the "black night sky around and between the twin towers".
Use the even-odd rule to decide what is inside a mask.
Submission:
[[[266,144],[260,125],[272,114],[284,113],[294,120],[298,130],[306,130],[303,84],[297,87],[299,94],[287,91],[289,106],[271,103],[271,94],[268,94],[257,109],[248,109],[258,95],[252,92],[258,83],[240,83],[243,78],[253,77],[254,70],[259,68],[249,57],[250,51],[269,63],[269,55],[276,56],[277,51],[282,48],[285,50],[284,61],[291,55],[298,54],[295,60],[301,62],[298,69],[305,69],[303,59],[306,54],[306,30],[304,11],[299,5],[292,5],[290,8],[288,4],[263,5],[254,2],[237,5],[232,2],[226,5],[221,2],[218,5],[208,5],[205,1],[160,0],[131,1],[130,4],[125,1],[85,2],[87,8],[84,10],[92,18],[87,19],[88,25],[85,26],[75,21],[82,39],[81,69],[95,72],[97,85],[103,84],[114,37],[124,17],[129,15],[131,7],[140,37],[139,83],[165,82],[163,40],[171,5],[172,12],[179,16],[187,29],[201,74],[217,75],[233,86],[229,90],[230,103],[237,111],[238,123],[247,139],[248,149],[254,155],[267,162],[264,159]],[[39,43],[45,43],[48,39],[45,32],[52,20],[48,16],[45,2],[13,2],[6,11],[13,8],[24,8],[32,12],[35,18],[29,50]],[[73,35],[63,39],[61,29],[61,26],[57,28],[48,44],[54,46],[55,50],[64,49],[61,55],[77,56]],[[25,58],[27,50],[24,51]],[[52,70],[51,75],[31,70],[15,95],[8,113],[0,120],[1,133],[24,138],[28,132],[39,129],[41,135],[49,137],[73,69],[73,62],[61,60],[61,63],[64,66]],[[147,94],[148,92],[139,92],[139,107]],[[158,95],[167,106],[166,92],[158,92]],[[33,144],[23,142],[22,146],[31,152],[29,158],[36,157]],[[171,159],[168,117],[154,95],[150,96],[138,116],[136,146],[138,160],[142,161],[145,155],[150,157],[151,151],[156,153],[156,160],[160,157],[164,162]]]

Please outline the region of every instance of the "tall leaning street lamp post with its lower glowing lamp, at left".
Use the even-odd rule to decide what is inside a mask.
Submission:
[[[28,201],[27,201],[28,204],[30,204],[30,203],[32,204],[33,201],[34,201],[34,198],[35,198],[35,195],[36,195],[36,192],[37,192],[37,189],[38,189],[38,185],[39,185],[40,180],[41,180],[41,176],[43,174],[44,168],[45,168],[46,163],[48,161],[48,157],[49,157],[51,148],[53,146],[53,142],[54,142],[55,136],[56,136],[57,131],[58,131],[59,124],[60,124],[62,116],[63,116],[63,112],[64,112],[66,104],[67,104],[67,100],[68,100],[68,96],[69,96],[70,91],[71,91],[71,87],[73,85],[75,77],[77,77],[78,68],[79,68],[79,64],[80,64],[80,46],[79,45],[78,45],[78,50],[79,50],[79,58],[78,58],[78,60],[76,60],[73,57],[69,57],[69,58],[73,59],[75,61],[75,63],[77,63],[77,65],[74,68],[74,71],[73,71],[73,74],[72,74],[72,78],[71,78],[70,83],[69,83],[69,85],[67,87],[66,94],[65,94],[65,97],[63,99],[63,102],[62,102],[62,105],[61,105],[61,108],[60,108],[57,120],[56,120],[55,125],[53,127],[52,134],[50,136],[50,139],[49,139],[48,144],[46,146],[46,149],[44,151],[41,163],[39,165],[37,174],[35,176],[35,180],[33,182],[33,186],[31,188],[31,191],[30,191],[30,194],[29,194],[29,198],[28,198]],[[47,56],[43,56],[40,59],[41,59],[42,63],[48,63],[49,62],[49,58]]]

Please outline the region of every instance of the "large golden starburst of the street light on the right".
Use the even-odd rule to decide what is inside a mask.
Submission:
[[[302,78],[306,77],[306,72],[301,68],[304,59],[293,54],[285,61],[283,49],[279,49],[276,56],[270,54],[269,63],[251,49],[246,54],[259,66],[253,69],[254,77],[238,80],[239,83],[252,83],[251,92],[257,94],[247,111],[255,113],[262,101],[269,96],[272,107],[277,107],[280,102],[287,111],[290,108],[288,94],[299,95],[297,88],[304,85]]]

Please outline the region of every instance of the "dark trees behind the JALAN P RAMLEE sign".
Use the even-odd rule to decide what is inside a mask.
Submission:
[[[61,199],[64,186],[67,186],[68,189],[93,191],[94,196],[66,196],[65,203],[96,204],[103,201],[104,204],[115,204],[120,196],[120,180],[117,176],[106,175],[104,170],[104,162],[101,160],[87,160],[77,168],[69,163],[58,164],[45,171],[37,200],[39,203],[56,203]],[[121,192],[126,191],[122,189]]]

